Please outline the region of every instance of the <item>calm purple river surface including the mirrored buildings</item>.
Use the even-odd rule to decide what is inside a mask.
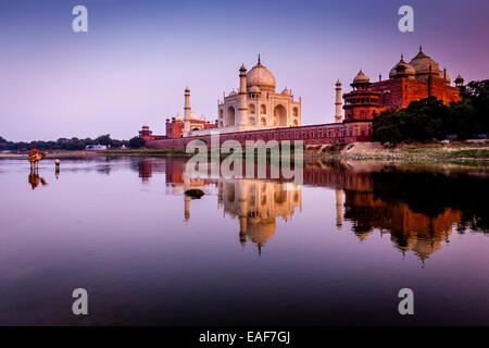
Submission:
[[[191,179],[174,159],[38,176],[1,160],[0,324],[488,325],[487,174],[312,161],[298,186]]]

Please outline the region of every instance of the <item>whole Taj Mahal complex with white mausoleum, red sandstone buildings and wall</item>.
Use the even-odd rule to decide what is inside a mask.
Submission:
[[[212,134],[221,135],[220,141],[248,140],[303,141],[305,145],[333,142],[371,141],[372,121],[388,109],[403,109],[411,102],[436,97],[450,104],[461,100],[460,87],[464,79],[459,75],[455,86],[447,69],[427,55],[419,46],[417,54],[401,60],[389,70],[388,78],[378,75],[377,82],[361,70],[353,78],[351,91],[342,94],[342,84],[335,88],[335,115],[333,123],[302,125],[302,100],[294,98],[285,87],[277,92],[274,74],[262,64],[259,54],[256,64],[248,71],[244,64],[238,70],[238,89],[217,100],[217,119],[198,117],[190,104],[190,89],[185,89],[184,117],[166,119],[166,135],[153,135],[148,125],[139,130],[149,148],[185,148],[199,139],[210,144]],[[344,103],[343,103],[344,100]],[[331,101],[333,102],[333,101]],[[344,113],[343,113],[344,112]],[[325,115],[325,120],[328,119]]]

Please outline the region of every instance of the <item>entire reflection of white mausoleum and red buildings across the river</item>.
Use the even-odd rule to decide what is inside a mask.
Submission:
[[[186,189],[217,188],[218,209],[223,210],[224,216],[239,221],[239,243],[244,246],[251,241],[259,253],[275,235],[276,220],[288,221],[298,209],[302,210],[301,186],[292,183],[193,179],[185,174],[183,160],[143,159],[139,162],[139,176],[143,183],[153,172],[165,174],[167,194],[181,195],[185,220],[190,219],[191,206],[191,199],[184,195]],[[455,183],[455,179],[463,183]],[[374,231],[389,233],[397,249],[402,253],[413,251],[424,261],[450,241],[454,226],[480,220],[481,213],[471,210],[479,207],[478,202],[465,201],[463,187],[482,185],[487,188],[487,181],[477,181],[477,175],[473,174],[453,177],[447,173],[404,173],[377,162],[306,161],[303,185],[335,190],[331,209],[336,210],[337,229],[341,231],[348,221],[349,228],[360,240]],[[446,187],[461,187],[462,192],[452,189],[451,196],[443,196]],[[418,203],[421,201],[425,203]],[[467,207],[471,203],[474,206]],[[482,226],[485,223],[482,221]]]

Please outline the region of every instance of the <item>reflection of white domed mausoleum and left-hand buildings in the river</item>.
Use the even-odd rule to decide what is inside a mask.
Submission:
[[[139,177],[148,184],[153,172],[165,174],[166,192],[184,199],[184,217],[190,219],[192,198],[184,192],[189,188],[204,191],[215,187],[217,209],[224,216],[239,221],[239,243],[251,241],[259,254],[267,240],[275,235],[276,220],[288,221],[296,209],[302,208],[301,187],[293,183],[266,179],[209,179],[190,178],[185,173],[185,162],[178,160],[142,159],[138,164]]]

